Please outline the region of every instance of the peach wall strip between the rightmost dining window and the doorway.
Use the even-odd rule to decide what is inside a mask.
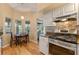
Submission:
[[[39,18],[40,15],[42,15],[42,13],[35,13],[32,14],[30,17],[31,19],[30,39],[36,43],[37,43],[37,18]]]

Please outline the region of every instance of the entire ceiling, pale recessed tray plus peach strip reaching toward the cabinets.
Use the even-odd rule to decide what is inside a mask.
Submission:
[[[38,12],[40,10],[43,10],[44,8],[51,6],[57,7],[62,4],[57,4],[57,3],[10,3],[9,4],[12,8],[15,10],[21,11],[21,12]]]

